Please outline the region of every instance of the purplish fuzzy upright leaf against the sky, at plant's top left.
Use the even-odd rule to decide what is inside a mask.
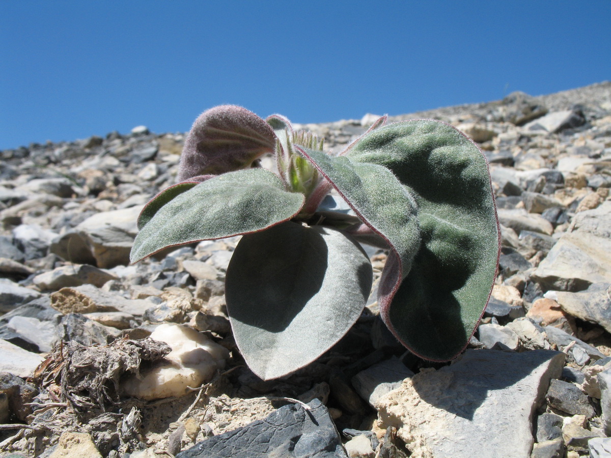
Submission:
[[[193,123],[180,156],[178,181],[246,169],[276,146],[274,129],[262,118],[235,105],[203,112]]]

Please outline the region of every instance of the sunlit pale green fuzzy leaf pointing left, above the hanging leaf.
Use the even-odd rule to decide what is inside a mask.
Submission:
[[[159,208],[137,234],[130,260],[169,246],[263,230],[298,214],[304,200],[302,194],[285,191],[269,170],[215,176]]]

